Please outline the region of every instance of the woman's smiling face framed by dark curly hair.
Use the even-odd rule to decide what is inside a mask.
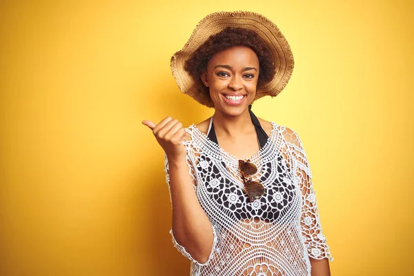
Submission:
[[[248,110],[256,96],[259,59],[246,46],[233,46],[213,55],[201,75],[210,90],[215,111],[237,116]]]

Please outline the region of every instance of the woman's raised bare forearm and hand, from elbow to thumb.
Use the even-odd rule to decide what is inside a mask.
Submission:
[[[166,152],[172,204],[172,233],[177,243],[199,263],[208,260],[213,247],[213,228],[195,194],[188,173],[186,148],[181,140],[186,131],[177,119],[166,117],[155,125],[143,121]]]

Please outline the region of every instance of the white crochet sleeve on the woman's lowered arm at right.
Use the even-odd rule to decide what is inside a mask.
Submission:
[[[288,144],[293,155],[295,181],[302,190],[300,226],[308,255],[313,259],[323,259],[326,257],[333,262],[329,246],[326,243],[326,237],[322,232],[315,190],[312,183],[311,167],[306,158],[302,141],[294,130],[286,128],[286,133],[290,137]]]

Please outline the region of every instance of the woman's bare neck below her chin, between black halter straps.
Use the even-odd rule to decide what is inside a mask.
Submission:
[[[246,132],[255,131],[248,108],[241,115],[230,116],[223,112],[215,110],[213,115],[215,132],[218,136],[225,135],[228,137],[237,137],[244,135]]]

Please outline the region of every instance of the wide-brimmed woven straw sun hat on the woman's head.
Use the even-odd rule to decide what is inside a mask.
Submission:
[[[171,57],[172,75],[181,92],[193,97],[193,99],[204,106],[214,107],[214,103],[208,93],[203,93],[203,90],[208,88],[201,81],[193,79],[184,70],[184,64],[211,35],[221,32],[226,27],[253,30],[266,43],[273,54],[276,73],[270,82],[257,87],[255,100],[266,95],[271,97],[277,96],[288,83],[290,75],[292,75],[294,61],[290,46],[279,28],[272,21],[262,14],[242,11],[208,14],[199,21],[182,50],[176,52]]]

